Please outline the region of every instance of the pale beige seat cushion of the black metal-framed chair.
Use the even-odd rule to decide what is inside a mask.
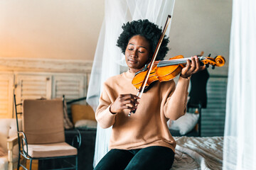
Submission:
[[[33,158],[60,157],[76,155],[78,154],[78,149],[68,145],[66,142],[45,145],[28,145],[28,154]]]

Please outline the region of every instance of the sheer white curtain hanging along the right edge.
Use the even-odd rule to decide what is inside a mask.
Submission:
[[[233,0],[223,169],[256,169],[255,9]]]

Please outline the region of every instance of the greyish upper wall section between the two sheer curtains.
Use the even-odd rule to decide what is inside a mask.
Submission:
[[[223,55],[228,63],[232,0],[177,0],[171,23],[169,56],[201,51]]]

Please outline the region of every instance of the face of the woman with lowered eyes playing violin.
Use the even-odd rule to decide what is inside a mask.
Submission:
[[[149,62],[149,42],[141,35],[134,35],[125,50],[125,61],[129,72],[138,72]]]

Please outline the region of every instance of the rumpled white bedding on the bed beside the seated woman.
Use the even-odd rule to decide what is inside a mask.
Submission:
[[[171,170],[222,169],[223,137],[174,137],[177,142]]]

